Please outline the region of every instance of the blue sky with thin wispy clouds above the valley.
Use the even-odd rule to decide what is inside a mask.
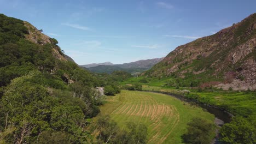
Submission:
[[[59,41],[78,64],[164,57],[256,13],[256,1],[12,1],[0,13]]]

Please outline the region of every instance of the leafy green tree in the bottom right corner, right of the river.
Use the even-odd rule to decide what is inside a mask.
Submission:
[[[253,123],[243,117],[234,117],[230,123],[224,124],[220,129],[220,141],[228,144],[256,143],[256,128]]]

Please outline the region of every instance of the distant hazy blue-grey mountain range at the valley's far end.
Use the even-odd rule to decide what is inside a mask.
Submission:
[[[95,73],[112,73],[113,71],[123,70],[132,75],[138,75],[145,70],[152,68],[155,64],[159,63],[164,57],[162,58],[153,58],[153,59],[145,59],[139,60],[136,62],[131,63],[124,63],[124,64],[113,64],[110,62],[105,63],[92,63],[86,65],[80,65],[80,67],[84,67],[92,72]]]

